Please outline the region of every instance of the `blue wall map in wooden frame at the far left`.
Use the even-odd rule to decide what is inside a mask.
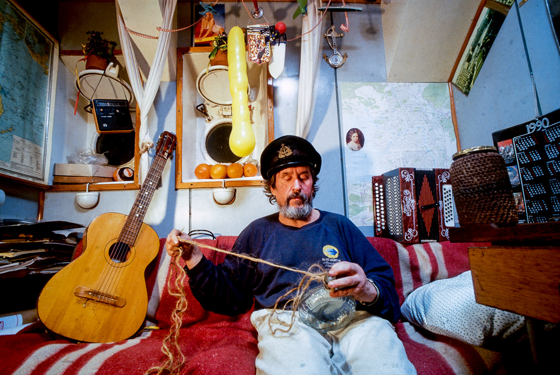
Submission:
[[[0,82],[4,92],[4,114],[2,123],[0,123],[2,125],[0,126],[0,147],[3,149],[0,177],[46,189],[50,176],[59,45],[57,40],[16,2],[6,2],[6,12],[10,12],[10,10],[13,11],[13,14],[7,15],[6,19],[13,19],[15,23],[21,20],[24,25],[13,26],[11,22],[6,21],[7,24],[4,25],[2,32],[12,30],[17,34],[17,27],[24,27],[29,36],[26,37],[26,42],[20,37],[16,37],[13,41],[18,40],[16,43],[33,45],[30,48],[25,46],[21,49],[6,48],[4,53],[27,49],[36,52],[22,54],[14,65],[10,65],[8,62],[17,60],[16,56],[3,55],[1,57],[6,60],[8,74],[5,74],[4,79]],[[9,45],[10,35],[3,35],[3,38],[6,45]],[[33,42],[34,40],[35,42]],[[45,50],[48,51],[40,52]],[[13,68],[16,66],[17,68]],[[11,69],[19,72],[20,75],[16,76],[16,73],[11,75]],[[21,87],[22,82],[27,85]],[[32,91],[34,88],[43,90]],[[12,96],[8,93],[12,93]],[[30,97],[36,100],[31,101]],[[25,129],[25,126],[28,129]]]

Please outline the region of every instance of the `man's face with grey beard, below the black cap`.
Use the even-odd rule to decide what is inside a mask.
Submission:
[[[276,174],[270,192],[276,196],[284,216],[304,219],[311,213],[313,177],[309,166],[285,168]]]

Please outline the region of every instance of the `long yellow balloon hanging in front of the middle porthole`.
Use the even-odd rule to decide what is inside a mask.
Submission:
[[[245,37],[239,26],[232,27],[227,36],[227,64],[232,97],[230,148],[237,156],[245,157],[255,149],[255,134],[249,112]]]

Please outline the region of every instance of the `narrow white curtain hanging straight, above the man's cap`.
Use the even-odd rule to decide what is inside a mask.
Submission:
[[[303,17],[301,33],[311,30],[321,18],[318,8],[320,0],[307,2],[307,14]],[[321,39],[321,26],[301,37],[300,80],[297,97],[297,120],[295,135],[306,138],[309,134],[313,118],[313,88],[315,75],[319,67],[319,41]]]

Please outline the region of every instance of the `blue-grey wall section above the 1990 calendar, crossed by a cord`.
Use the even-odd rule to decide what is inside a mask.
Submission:
[[[544,0],[520,8],[543,113],[560,106],[560,58],[543,13]],[[524,16],[526,15],[526,16]],[[490,49],[469,95],[453,88],[461,148],[492,145],[492,132],[535,118],[533,85],[515,6]]]

